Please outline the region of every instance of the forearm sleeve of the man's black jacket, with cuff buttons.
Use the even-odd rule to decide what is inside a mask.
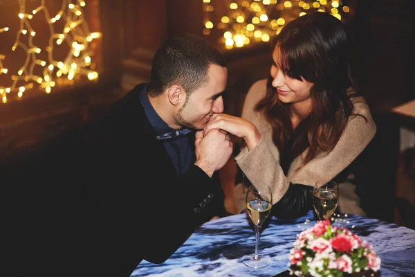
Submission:
[[[148,262],[165,262],[199,226],[215,215],[225,215],[223,190],[217,172],[210,178],[201,168],[193,165],[181,182],[180,189],[171,191],[172,206],[167,208],[169,211],[165,211],[163,220],[151,228],[163,229],[162,234],[149,231],[144,245],[144,258]],[[154,242],[163,247],[156,247]]]

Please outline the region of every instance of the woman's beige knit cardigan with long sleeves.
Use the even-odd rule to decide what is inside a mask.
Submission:
[[[259,80],[250,87],[246,95],[242,118],[250,120],[257,126],[261,132],[261,140],[249,152],[247,148],[243,148],[235,157],[235,161],[252,183],[267,184],[272,188],[273,204],[286,193],[290,182],[314,186],[317,180],[333,179],[358,157],[376,132],[376,125],[364,99],[362,97],[352,98],[353,114],[362,114],[367,118],[367,122],[362,116],[350,116],[347,127],[331,152],[319,154],[304,167],[299,168],[305,151],[294,159],[288,169],[288,175],[285,176],[279,165],[279,152],[273,143],[271,126],[261,114],[254,111],[255,105],[265,96],[265,93],[266,80]]]

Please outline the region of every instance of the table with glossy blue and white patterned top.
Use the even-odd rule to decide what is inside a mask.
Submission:
[[[347,226],[373,245],[381,259],[382,277],[415,276],[415,230],[358,215],[337,218],[334,225]],[[244,255],[255,251],[248,215],[223,217],[203,224],[163,264],[143,260],[131,277],[274,276],[288,269],[288,253],[296,235],[314,224],[313,211],[297,220],[269,218],[261,233],[259,253],[270,257],[271,263],[263,269],[250,269],[241,262]]]

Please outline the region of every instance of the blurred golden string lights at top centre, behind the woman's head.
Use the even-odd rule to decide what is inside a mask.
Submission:
[[[329,12],[342,20],[349,12],[342,0],[284,1],[284,0],[224,0],[225,15],[216,15],[219,22],[212,22],[214,6],[203,1],[203,34],[210,35],[213,28],[221,30],[219,44],[225,48],[241,48],[250,43],[269,42],[282,27],[296,17],[310,12]]]

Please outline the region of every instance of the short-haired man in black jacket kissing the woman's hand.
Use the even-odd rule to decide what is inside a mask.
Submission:
[[[82,174],[62,178],[79,187],[75,212],[45,225],[52,236],[23,236],[20,276],[129,277],[142,260],[164,262],[201,224],[225,216],[217,170],[233,145],[225,132],[202,129],[223,112],[227,79],[223,56],[201,37],[160,46],[151,82],[91,126],[83,156],[74,157]]]

